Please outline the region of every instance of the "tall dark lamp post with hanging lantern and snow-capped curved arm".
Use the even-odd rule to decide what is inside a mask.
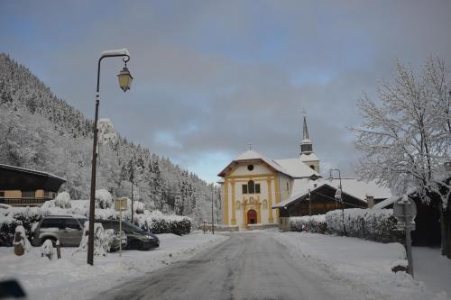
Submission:
[[[125,63],[124,68],[117,75],[119,79],[119,86],[124,92],[130,89],[133,77],[127,68],[127,61],[130,60],[130,53],[126,49],[107,50],[100,54],[100,59],[97,63],[97,93],[96,93],[96,114],[94,117],[94,141],[92,147],[92,162],[91,162],[91,195],[89,199],[89,235],[87,238],[87,263],[94,265],[94,210],[96,208],[96,164],[97,164],[97,120],[98,120],[98,105],[100,103],[100,63],[105,58],[122,57]]]

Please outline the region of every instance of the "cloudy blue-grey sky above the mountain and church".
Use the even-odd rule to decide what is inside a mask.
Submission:
[[[208,182],[252,144],[272,159],[299,157],[302,117],[321,173],[355,176],[349,127],[366,93],[419,69],[451,63],[451,1],[0,1],[0,52],[89,118],[104,59],[100,118],[129,141]]]

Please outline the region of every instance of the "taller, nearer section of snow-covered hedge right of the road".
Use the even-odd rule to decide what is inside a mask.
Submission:
[[[396,231],[397,222],[391,209],[335,210],[326,214],[326,223],[327,232],[332,234],[382,242],[402,239],[402,233]]]

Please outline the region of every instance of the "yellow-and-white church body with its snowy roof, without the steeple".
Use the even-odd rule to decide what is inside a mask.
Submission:
[[[287,167],[296,169],[298,178],[319,175],[300,159],[267,159],[254,150],[234,159],[219,173],[223,177],[223,223],[240,230],[249,229],[252,224],[262,228],[277,226],[279,211],[272,205],[291,195],[295,181]]]

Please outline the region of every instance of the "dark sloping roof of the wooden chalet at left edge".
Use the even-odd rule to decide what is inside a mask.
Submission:
[[[57,192],[65,182],[66,179],[51,173],[0,164],[0,189],[2,190],[44,189]]]

